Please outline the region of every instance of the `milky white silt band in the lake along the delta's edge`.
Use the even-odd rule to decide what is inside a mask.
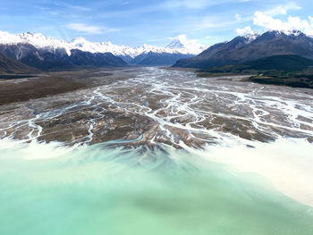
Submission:
[[[306,151],[299,153],[297,147],[306,149]],[[275,190],[284,197],[313,209],[313,172],[310,171],[313,167],[313,159],[307,154],[313,150],[313,145],[304,139],[280,138],[272,143],[256,142],[255,148],[240,145],[233,147],[212,146],[204,149],[187,146],[177,149],[165,143],[160,143],[153,148],[148,146],[128,148],[110,145],[110,143],[66,147],[62,142],[38,143],[35,141],[27,143],[21,140],[0,139],[0,149],[2,151],[5,152],[8,149],[15,148],[20,149],[20,153],[24,154],[23,159],[30,162],[49,161],[48,159],[58,158],[69,153],[77,155],[80,152],[84,153],[88,149],[92,150],[94,148],[101,149],[101,151],[112,151],[113,153],[119,151],[131,153],[133,151],[151,157],[164,153],[173,162],[182,160],[178,158],[178,155],[190,155],[196,161],[195,166],[198,165],[198,161],[202,160],[208,165],[212,163],[219,164],[226,172],[233,174],[238,180],[243,177],[242,179],[246,179],[252,185],[261,185],[265,189]],[[31,152],[32,155],[26,157],[25,154],[34,148],[40,149],[40,152]],[[41,152],[45,151],[49,153],[42,155]],[[136,161],[136,159],[133,159],[133,161]]]

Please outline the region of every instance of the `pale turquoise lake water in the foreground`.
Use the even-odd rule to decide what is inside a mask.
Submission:
[[[5,235],[313,234],[311,208],[261,176],[165,146],[4,146],[0,205]]]

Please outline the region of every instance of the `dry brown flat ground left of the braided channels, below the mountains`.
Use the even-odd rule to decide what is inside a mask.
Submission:
[[[106,72],[101,72],[103,70],[106,70]],[[22,79],[0,80],[0,105],[110,84],[118,76],[112,72],[115,70],[117,69],[50,71],[31,74],[31,76]],[[107,79],[104,80],[106,77]],[[125,75],[121,76],[120,79],[126,79]]]

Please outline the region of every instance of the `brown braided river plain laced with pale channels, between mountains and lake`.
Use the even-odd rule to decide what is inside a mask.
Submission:
[[[312,103],[305,90],[292,93],[281,88],[288,92],[277,93],[276,87],[243,83],[238,76],[199,80],[192,72],[170,71],[157,74],[159,79],[145,68],[123,68],[57,71],[2,80],[0,136],[32,136],[67,145],[123,139],[127,141],[117,141],[118,145],[127,147],[153,147],[156,143],[182,147],[183,143],[201,148],[230,136],[245,143],[267,142],[278,136],[312,141],[311,117],[299,115],[299,130],[294,130],[290,113],[285,111],[290,108],[286,102],[298,97],[303,100],[295,108],[303,110],[306,104],[308,109]],[[142,73],[145,76],[138,76]],[[35,128],[29,120],[34,120]],[[14,122],[15,126],[8,127]],[[36,125],[42,128],[41,135]]]

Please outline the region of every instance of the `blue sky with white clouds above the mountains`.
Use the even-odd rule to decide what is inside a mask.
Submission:
[[[213,45],[237,35],[300,29],[313,36],[312,0],[1,0],[0,30],[71,41],[166,46],[186,35]]]

